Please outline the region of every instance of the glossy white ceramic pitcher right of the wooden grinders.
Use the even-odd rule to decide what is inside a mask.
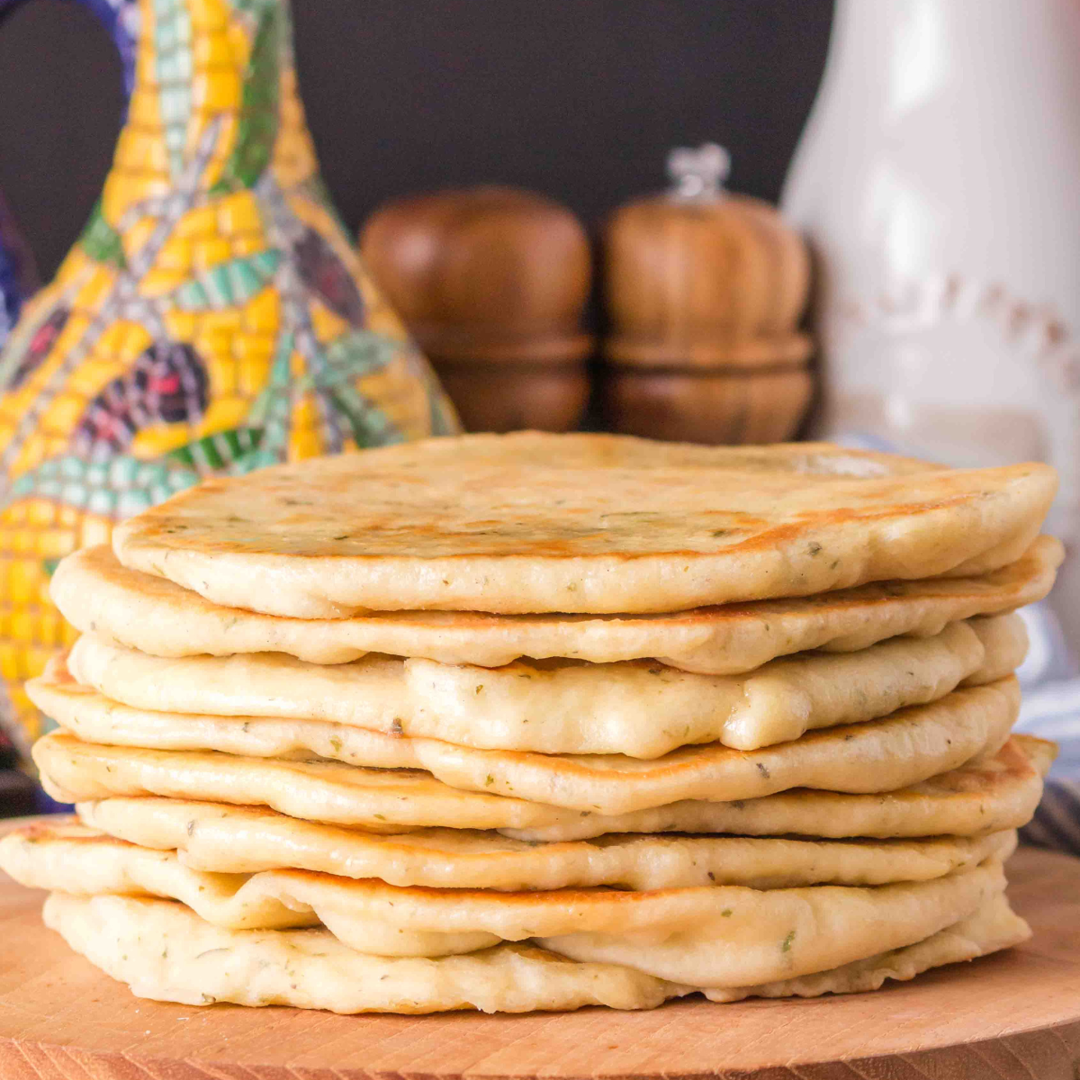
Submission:
[[[838,0],[782,205],[829,437],[1042,459],[1080,647],[1080,0]]]

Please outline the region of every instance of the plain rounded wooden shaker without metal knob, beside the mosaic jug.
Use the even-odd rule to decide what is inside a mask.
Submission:
[[[399,199],[367,220],[361,251],[467,430],[578,426],[592,262],[568,210],[496,186]]]

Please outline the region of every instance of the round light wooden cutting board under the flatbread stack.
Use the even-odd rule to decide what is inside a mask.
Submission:
[[[0,1080],[1080,1080],[1080,860],[1009,873],[1031,942],[877,994],[528,1016],[141,1001],[0,874]]]

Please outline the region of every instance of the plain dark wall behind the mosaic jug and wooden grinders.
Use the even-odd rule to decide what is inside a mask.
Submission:
[[[832,0],[294,0],[324,174],[353,228],[449,185],[535,188],[592,229],[715,140],[730,186],[774,200],[821,76]],[[0,21],[0,190],[44,278],[77,237],[120,124],[93,16],[27,0]]]

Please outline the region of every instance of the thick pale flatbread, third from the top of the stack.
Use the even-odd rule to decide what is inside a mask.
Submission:
[[[383,656],[309,664],[281,652],[166,660],[93,634],[67,664],[79,683],[140,710],[324,720],[477,750],[654,758],[714,741],[758,750],[887,716],[960,684],[1002,678],[1026,651],[1024,621],[1010,615],[853,653],[774,660],[742,677],[640,660],[497,669]]]

